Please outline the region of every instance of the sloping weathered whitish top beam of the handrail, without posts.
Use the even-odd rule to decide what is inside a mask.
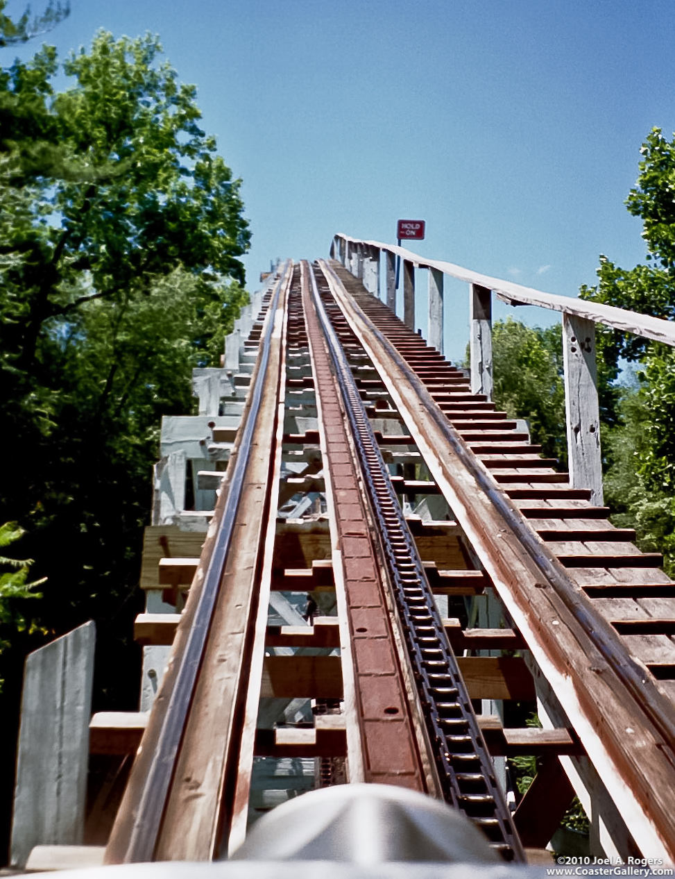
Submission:
[[[343,236],[343,238],[346,243],[360,240],[349,238],[348,236]],[[604,323],[617,330],[634,333],[636,336],[652,338],[657,342],[664,342],[665,345],[675,347],[675,325],[671,321],[663,320],[660,317],[639,315],[635,311],[617,309],[614,305],[604,305],[601,302],[587,302],[574,299],[571,296],[544,293],[542,290],[536,290],[534,287],[523,287],[521,284],[514,284],[513,281],[492,278],[490,275],[484,275],[481,272],[473,272],[471,269],[464,268],[463,265],[455,265],[455,263],[448,263],[442,259],[420,257],[418,254],[408,251],[405,247],[398,247],[396,244],[387,244],[381,241],[367,241],[366,243],[379,247],[381,250],[394,256],[398,255],[402,259],[409,259],[416,267],[435,268],[439,272],[451,275],[453,278],[468,281],[470,284],[478,284],[481,287],[488,287],[499,296],[499,299],[512,305],[538,305],[542,309],[563,311],[567,314],[585,317],[587,320],[595,323]]]

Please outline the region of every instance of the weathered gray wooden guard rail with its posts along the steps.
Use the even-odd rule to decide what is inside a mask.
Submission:
[[[470,285],[471,393],[492,399],[492,294],[509,305],[535,305],[560,311],[563,321],[565,415],[570,483],[590,489],[592,504],[602,505],[600,410],[595,362],[595,324],[633,333],[675,347],[675,325],[659,317],[640,315],[612,305],[572,299],[492,278],[462,265],[420,257],[396,244],[363,241],[338,234],[331,257],[338,259],[373,295],[380,294],[380,258],[386,265],[386,303],[396,312],[396,258],[402,262],[403,321],[415,330],[414,269],[428,269],[428,339],[443,352],[443,276]]]

